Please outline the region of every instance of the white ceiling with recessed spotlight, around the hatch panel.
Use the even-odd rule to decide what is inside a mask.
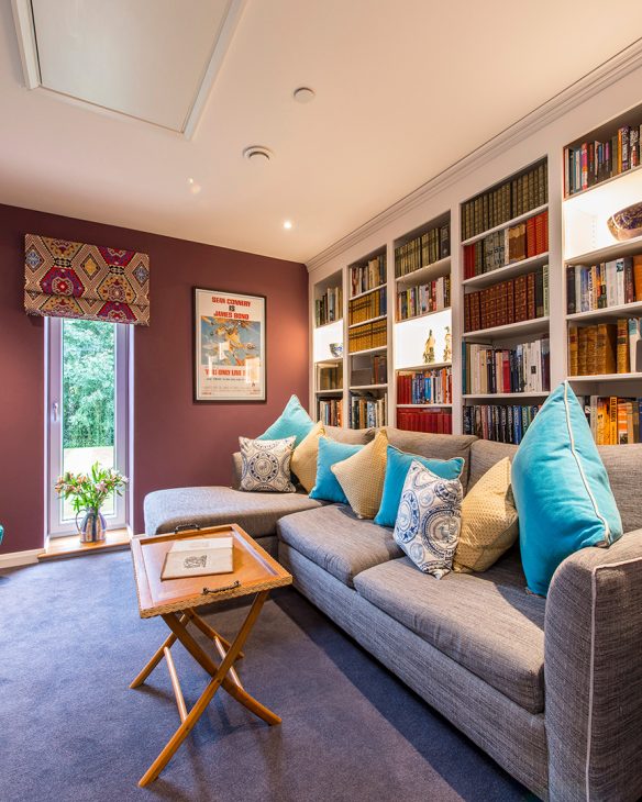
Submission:
[[[147,5],[102,5],[135,13],[137,2]],[[186,140],[25,89],[0,0],[0,202],[307,260],[631,44],[642,3],[606,32],[595,24],[604,8],[247,0]],[[140,40],[143,53],[155,46]],[[301,85],[312,103],[294,102]],[[274,152],[269,164],[243,158],[257,144]]]

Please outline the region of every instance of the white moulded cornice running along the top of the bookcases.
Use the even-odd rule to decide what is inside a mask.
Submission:
[[[442,172],[425,183],[422,183],[421,187],[418,187],[410,194],[401,198],[401,200],[398,200],[391,207],[388,207],[363,225],[359,225],[358,229],[355,229],[350,234],[329,245],[320,254],[317,254],[317,256],[308,259],[306,263],[308,271],[312,272],[319,269],[325,263],[341,255],[344,250],[347,250],[352,245],[356,245],[388,223],[394,222],[416,207],[424,203],[433,196],[443,192],[462,174],[468,172],[473,163],[475,163],[475,167],[486,164],[495,158],[499,152],[506,151],[522,140],[528,138],[536,131],[540,131],[589,98],[598,94],[607,87],[616,83],[640,66],[642,66],[642,38],[637,40],[629,47],[620,51],[620,53],[609,58],[599,67],[578,78],[578,80],[566,87],[566,89],[563,89],[536,109],[533,109],[533,111],[525,114],[491,140],[488,140],[488,142],[485,142],[475,151],[458,159],[455,164],[446,167],[445,170],[442,170]]]

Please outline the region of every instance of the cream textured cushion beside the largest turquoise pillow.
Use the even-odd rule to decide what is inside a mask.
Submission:
[[[512,546],[519,521],[510,488],[510,459],[496,463],[462,504],[462,533],[453,569],[485,571]]]

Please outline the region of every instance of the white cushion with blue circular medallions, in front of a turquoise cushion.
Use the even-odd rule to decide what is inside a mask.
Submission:
[[[462,482],[442,479],[413,460],[401,492],[395,541],[424,573],[436,579],[453,566],[462,527]]]

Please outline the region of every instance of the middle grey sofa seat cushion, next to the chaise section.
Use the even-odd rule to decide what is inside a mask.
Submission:
[[[277,530],[281,541],[348,588],[361,571],[403,554],[391,530],[357,519],[345,504],[288,515]]]

